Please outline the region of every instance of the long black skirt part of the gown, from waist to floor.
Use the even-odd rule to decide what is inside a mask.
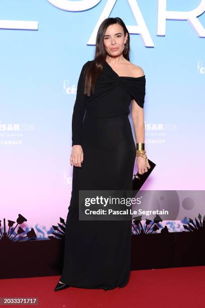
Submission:
[[[79,190],[132,190],[136,146],[127,114],[85,115],[83,164],[73,166],[60,281],[99,289],[124,287],[131,266],[132,220],[79,220]]]

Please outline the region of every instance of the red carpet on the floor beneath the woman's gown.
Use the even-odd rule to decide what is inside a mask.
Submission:
[[[0,279],[0,297],[38,297],[48,308],[183,308],[205,306],[205,266],[131,271],[124,288],[69,287],[54,292],[60,276]],[[18,305],[7,305],[15,307]]]

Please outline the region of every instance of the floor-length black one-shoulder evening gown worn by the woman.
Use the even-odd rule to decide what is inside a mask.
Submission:
[[[124,287],[131,269],[132,220],[79,220],[79,190],[132,190],[136,145],[128,115],[132,99],[143,108],[145,75],[119,76],[106,61],[95,93],[83,94],[81,70],[72,116],[72,145],[83,149],[73,165],[60,281],[73,287]],[[84,118],[84,119],[83,119]]]

